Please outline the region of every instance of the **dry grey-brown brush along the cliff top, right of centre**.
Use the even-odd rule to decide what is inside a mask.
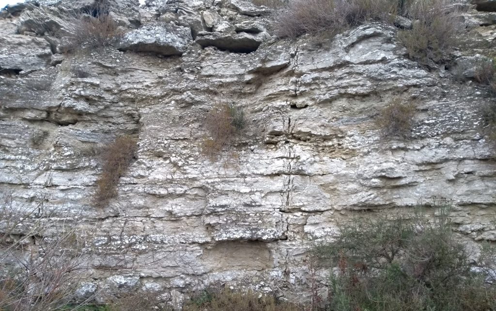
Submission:
[[[330,32],[365,23],[394,25],[396,16],[412,21],[398,32],[410,58],[422,64],[440,62],[456,45],[460,12],[451,0],[295,0],[276,14],[279,37]]]

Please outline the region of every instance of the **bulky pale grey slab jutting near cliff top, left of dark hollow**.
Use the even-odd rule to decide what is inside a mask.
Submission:
[[[192,40],[189,28],[153,23],[126,33],[119,44],[119,49],[165,56],[182,55]]]

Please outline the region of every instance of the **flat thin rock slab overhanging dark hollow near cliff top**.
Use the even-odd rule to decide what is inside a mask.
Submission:
[[[196,43],[202,47],[214,46],[221,50],[236,53],[251,53],[268,38],[267,33],[251,34],[240,32],[236,34],[223,34],[218,32],[201,32],[196,38]]]

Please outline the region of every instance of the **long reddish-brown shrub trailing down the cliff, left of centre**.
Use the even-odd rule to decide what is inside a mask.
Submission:
[[[97,206],[106,206],[117,195],[119,178],[125,174],[136,152],[136,140],[121,136],[102,152],[102,173],[96,181],[94,201]]]

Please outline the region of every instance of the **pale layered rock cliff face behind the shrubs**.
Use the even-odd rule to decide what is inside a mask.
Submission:
[[[43,202],[40,215],[91,230],[88,247],[109,262],[124,246],[136,253],[133,269],[95,273],[82,296],[139,287],[181,301],[227,284],[305,299],[307,250],[357,210],[383,217],[448,200],[460,237],[496,240],[495,148],[480,114],[494,95],[468,70],[481,51],[428,71],[405,58],[393,27],[289,41],[266,31],[266,8],[186,4],[148,0],[125,52],[51,55],[45,38],[56,33],[15,31],[29,5],[0,19],[14,29],[0,37],[2,191],[14,207]],[[112,12],[136,18],[124,11]],[[383,139],[374,123],[393,98],[416,106],[410,140]],[[201,144],[217,102],[243,107],[247,125],[212,160]],[[137,138],[136,158],[118,196],[96,208],[95,150],[124,134]],[[317,276],[325,296],[327,272]]]

